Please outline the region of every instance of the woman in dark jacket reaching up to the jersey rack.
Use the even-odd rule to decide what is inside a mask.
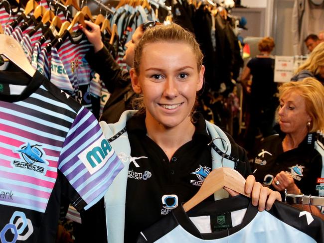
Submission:
[[[118,63],[105,47],[100,26],[85,20],[89,30],[82,28],[82,31],[87,36],[94,50],[91,50],[85,56],[86,60],[99,75],[100,79],[105,83],[106,88],[111,94],[107,101],[100,121],[108,123],[117,122],[121,114],[126,110],[132,110],[131,100],[135,96],[132,89],[130,74],[123,73]],[[155,26],[155,21],[149,21],[140,25],[132,35],[132,39],[125,44],[126,52],[123,58],[124,62],[129,66],[133,66],[134,48],[141,39],[146,28]]]

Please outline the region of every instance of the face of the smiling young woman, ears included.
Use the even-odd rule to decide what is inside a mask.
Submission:
[[[204,67],[183,42],[155,42],[143,49],[140,74],[131,71],[133,88],[143,93],[148,122],[165,128],[186,125],[196,92],[203,84]],[[149,125],[150,125],[149,124]]]

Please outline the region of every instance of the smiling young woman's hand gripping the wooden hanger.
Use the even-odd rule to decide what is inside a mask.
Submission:
[[[225,189],[231,196],[238,195],[238,193],[233,190],[228,188]],[[268,187],[262,186],[260,182],[255,181],[253,175],[249,175],[246,178],[245,193],[251,193],[252,205],[258,206],[260,212],[264,209],[270,210],[276,200],[281,201],[281,195],[279,192],[275,192]]]

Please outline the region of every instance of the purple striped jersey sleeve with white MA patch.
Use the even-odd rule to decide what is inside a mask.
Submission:
[[[68,131],[58,166],[69,182],[72,205],[78,211],[90,208],[123,167],[93,114],[82,107]]]

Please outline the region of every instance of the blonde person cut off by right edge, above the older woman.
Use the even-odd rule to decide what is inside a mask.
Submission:
[[[306,62],[296,70],[291,81],[299,81],[309,77],[316,78],[324,84],[324,42],[314,48]]]

